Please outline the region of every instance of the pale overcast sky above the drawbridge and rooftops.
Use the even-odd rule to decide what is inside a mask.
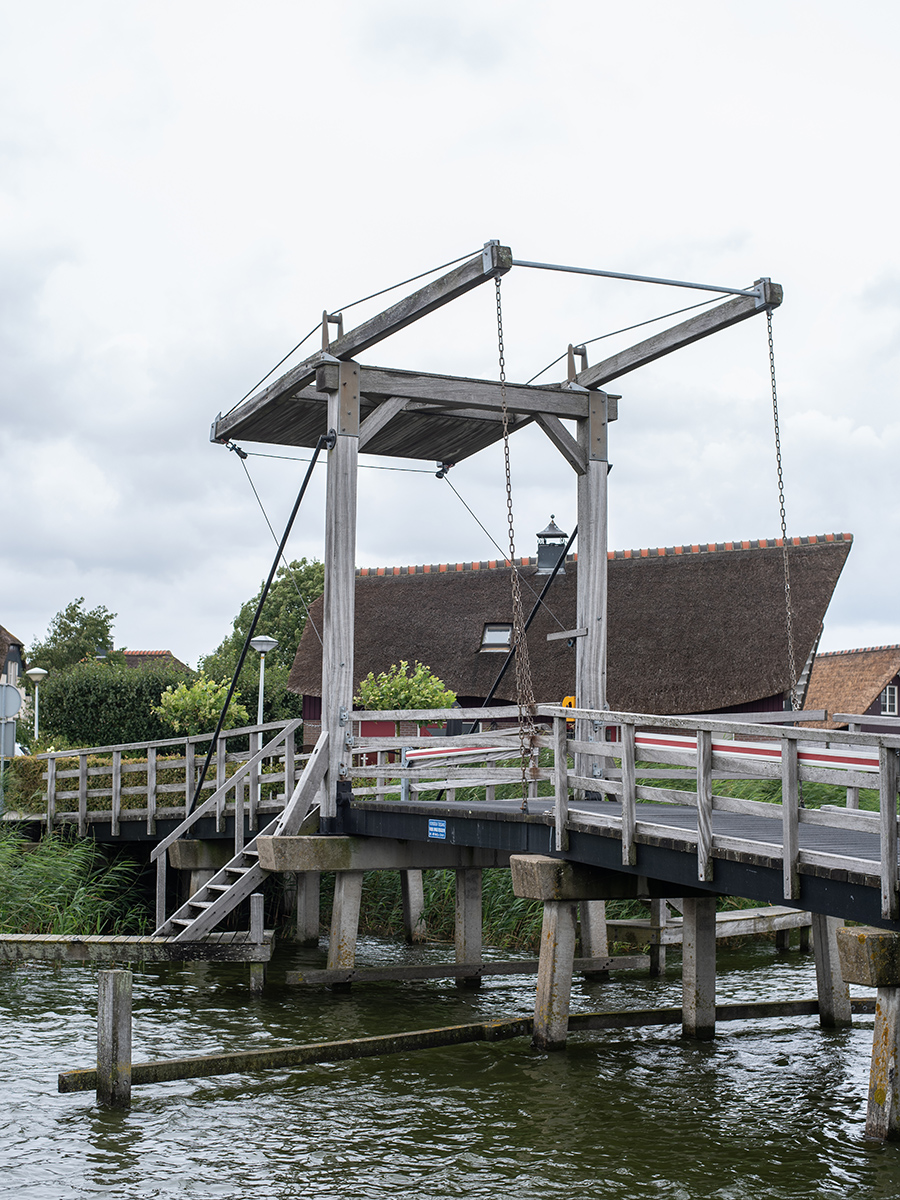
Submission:
[[[216,414],[323,308],[491,238],[781,283],[788,532],[854,535],[822,647],[900,642],[895,2],[2,0],[0,19],[0,623],[26,643],[83,595],[119,646],[214,649],[274,552]],[[517,382],[703,299],[527,270],[503,296]],[[496,338],[488,286],[362,358],[496,378]],[[764,318],[613,390],[612,547],[778,535]],[[512,456],[530,553],[551,512],[575,523],[575,476],[535,428]],[[418,470],[360,472],[360,565],[497,556],[433,464],[394,464]],[[280,530],[305,464],[247,467]],[[503,542],[499,449],[450,478]],[[322,557],[323,494],[324,469],[289,557]]]

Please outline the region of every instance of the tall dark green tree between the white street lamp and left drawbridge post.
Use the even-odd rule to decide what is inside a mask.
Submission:
[[[265,704],[266,721],[283,721],[300,716],[302,704],[299,696],[288,691],[288,676],[294,662],[300,636],[306,624],[310,605],[325,587],[325,568],[313,559],[300,558],[290,563],[289,570],[280,566],[263,612],[257,624],[257,634],[277,637],[278,644],[265,656]],[[257,590],[234,618],[232,632],[211,653],[200,659],[200,671],[214,679],[230,679],[238,666],[241,648],[247,637],[253,613],[257,611],[263,588]],[[238,680],[239,700],[256,712],[259,690],[259,655],[248,650]]]

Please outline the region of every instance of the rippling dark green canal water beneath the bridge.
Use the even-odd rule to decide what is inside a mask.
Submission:
[[[448,947],[364,940],[359,962],[434,961]],[[260,998],[247,970],[134,968],[134,1060],[361,1037],[532,1012],[534,979],[476,992],[451,982],[350,994],[284,986],[322,952],[281,953]],[[812,961],[772,943],[720,949],[719,998],[815,995]],[[680,1003],[665,979],[576,983],[575,1010]],[[761,1200],[900,1196],[900,1147],[866,1142],[872,1018],[824,1032],[815,1018],[526,1039],[259,1075],[138,1087],[130,1112],[59,1096],[60,1069],[96,1052],[96,968],[0,968],[0,1195]]]

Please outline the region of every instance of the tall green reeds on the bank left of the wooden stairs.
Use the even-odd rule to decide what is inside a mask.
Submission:
[[[0,826],[0,932],[145,934],[152,920],[138,875],[91,839],[29,842]]]

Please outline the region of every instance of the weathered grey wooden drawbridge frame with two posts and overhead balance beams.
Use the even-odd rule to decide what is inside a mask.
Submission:
[[[349,332],[340,332],[325,349],[227,415],[220,414],[212,425],[211,439],[223,444],[241,438],[312,446],[323,433],[335,433],[325,496],[322,727],[329,734],[329,758],[323,817],[336,815],[337,784],[348,780],[352,769],[359,452],[458,462],[503,437],[496,380],[365,366],[358,355],[515,265],[509,246],[487,242],[480,254]],[[582,709],[606,708],[607,448],[618,397],[604,388],[684,346],[778,307],[781,295],[778,284],[760,280],[752,292],[736,293],[594,366],[570,370],[565,382],[506,385],[510,431],[536,424],[577,476],[577,626],[587,630],[576,647],[576,694]],[[328,319],[324,328],[329,328]],[[575,422],[575,434],[563,424],[566,420]],[[593,722],[578,724],[577,740],[602,737]],[[576,763],[576,774],[584,773],[581,766],[587,770],[587,760]]]

